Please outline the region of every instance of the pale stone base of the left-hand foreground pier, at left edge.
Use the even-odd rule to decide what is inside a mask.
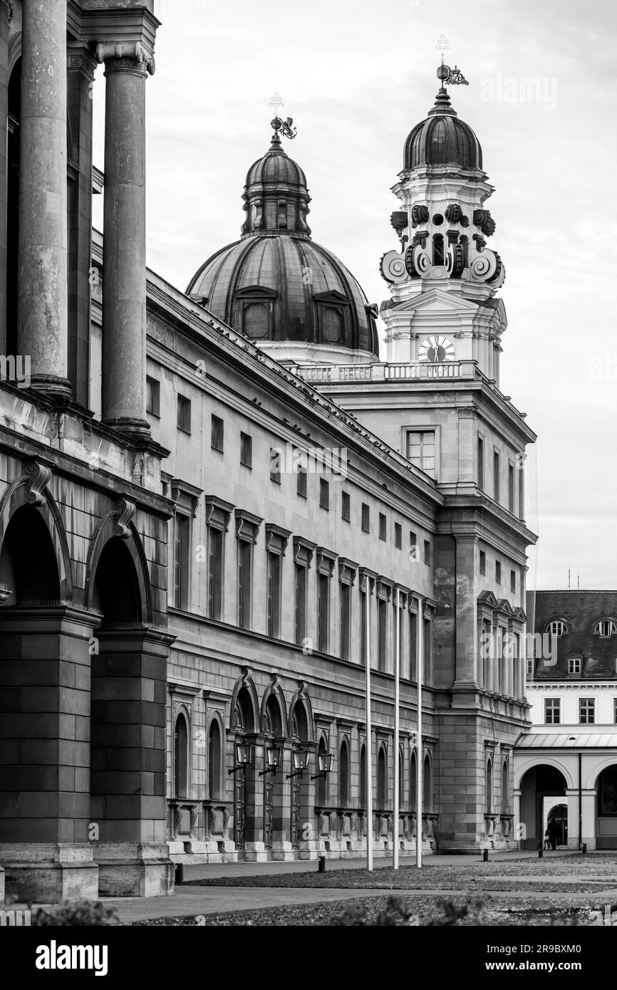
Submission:
[[[99,871],[89,844],[3,842],[0,861],[6,896],[22,904],[59,904],[99,896]]]

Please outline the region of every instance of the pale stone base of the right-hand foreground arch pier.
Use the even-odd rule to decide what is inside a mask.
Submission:
[[[166,842],[101,842],[93,846],[101,897],[159,897],[173,893],[174,867]]]

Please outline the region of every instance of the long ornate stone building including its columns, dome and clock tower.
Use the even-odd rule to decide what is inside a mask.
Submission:
[[[278,118],[240,241],[180,292],[145,262],[157,27],[0,2],[0,876],[152,895],[178,861],[386,853],[394,788],[402,848],[513,845],[535,437],[499,390],[477,139],[444,86],[407,139],[387,360]]]

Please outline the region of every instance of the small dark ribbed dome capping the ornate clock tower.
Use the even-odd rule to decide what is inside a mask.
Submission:
[[[459,120],[442,87],[426,120],[405,142],[405,168],[482,169],[482,148],[468,124]]]

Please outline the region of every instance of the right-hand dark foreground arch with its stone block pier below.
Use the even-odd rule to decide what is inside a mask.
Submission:
[[[99,892],[155,896],[173,887],[165,841],[165,701],[170,638],[149,628],[150,581],[137,531],[94,541],[86,592],[101,616],[92,655],[90,821]],[[174,777],[186,792],[190,748],[177,724]],[[181,743],[184,743],[180,752]],[[173,779],[173,778],[172,778]],[[175,783],[175,781],[174,781]]]

